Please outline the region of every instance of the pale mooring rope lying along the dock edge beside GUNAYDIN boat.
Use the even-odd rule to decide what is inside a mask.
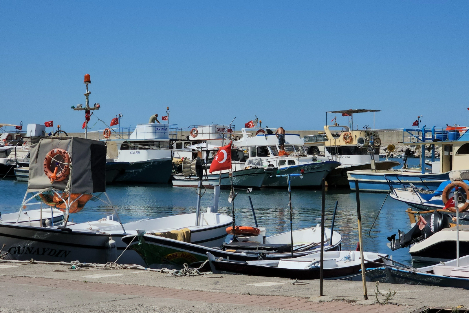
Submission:
[[[80,263],[80,261],[72,261],[72,262],[48,262],[48,261],[36,261],[36,260],[29,260],[29,261],[19,261],[19,260],[0,260],[0,263],[16,263],[16,264],[50,264],[50,265],[63,265],[63,266],[70,266],[67,269],[55,269],[54,272],[71,272],[71,271],[99,271],[99,270],[108,270],[108,269],[138,269],[143,271],[151,271],[151,272],[159,272],[159,273],[166,273],[168,276],[198,276],[198,275],[209,275],[213,274],[212,272],[200,272],[199,270],[204,267],[204,265],[208,262],[205,260],[201,266],[198,268],[189,268],[187,263],[184,263],[184,267],[182,269],[168,269],[163,267],[161,269],[156,268],[149,268],[144,267],[138,264],[117,264],[114,262],[107,262],[106,264],[100,263]]]

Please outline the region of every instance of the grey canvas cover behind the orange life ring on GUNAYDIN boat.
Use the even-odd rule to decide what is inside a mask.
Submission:
[[[44,173],[44,160],[53,149],[64,149],[71,160],[67,178],[50,183]],[[47,191],[51,187],[65,191],[72,179],[72,193],[106,191],[106,142],[80,137],[33,137],[31,138],[28,192]]]

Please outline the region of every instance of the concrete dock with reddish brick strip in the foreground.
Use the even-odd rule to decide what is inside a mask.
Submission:
[[[376,302],[375,283],[246,275],[174,277],[132,269],[57,271],[70,266],[0,263],[0,312],[414,312],[425,306],[469,307],[469,290],[380,284],[397,290],[391,304]],[[383,297],[379,297],[382,299]]]

